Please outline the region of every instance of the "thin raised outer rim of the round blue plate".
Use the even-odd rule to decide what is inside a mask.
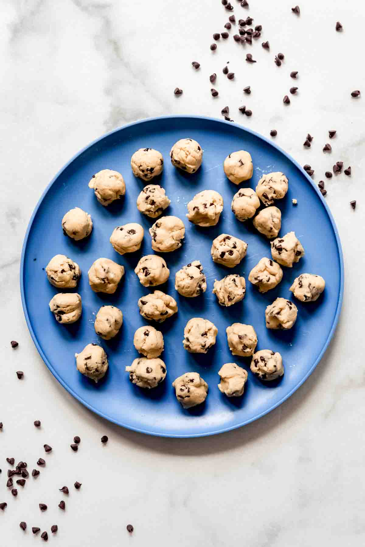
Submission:
[[[86,150],[88,150],[90,147],[94,146],[95,144],[99,143],[100,141],[102,141],[103,139],[113,135],[113,133],[117,133],[118,131],[122,131],[122,130],[126,130],[128,129],[128,127],[132,127],[132,126],[135,126],[135,125],[141,125],[141,124],[144,124],[144,123],[147,123],[147,122],[153,122],[153,121],[161,121],[161,120],[170,120],[170,119],[193,119],[194,121],[196,120],[209,120],[209,121],[215,121],[215,122],[218,122],[218,123],[221,123],[221,124],[228,124],[230,126],[233,126],[233,127],[237,127],[237,129],[240,129],[242,131],[246,131],[247,133],[251,133],[251,135],[254,135],[255,137],[265,141],[266,143],[270,144],[270,146],[272,146],[273,148],[275,148],[276,150],[278,150],[281,154],[283,154],[284,156],[286,156],[286,158],[291,161],[297,168],[299,168],[299,170],[302,172],[302,174],[305,175],[307,181],[312,185],[312,187],[315,189],[316,193],[317,193],[317,196],[319,199],[321,199],[322,201],[322,205],[325,207],[325,211],[327,212],[327,215],[328,215],[328,218],[329,220],[331,221],[331,225],[332,225],[332,229],[334,231],[334,235],[335,235],[335,239],[336,239],[336,243],[337,243],[337,249],[338,249],[338,254],[339,254],[339,260],[340,260],[340,291],[339,291],[339,295],[338,295],[338,301],[337,301],[337,309],[336,309],[336,313],[335,313],[335,316],[334,316],[334,319],[333,319],[333,323],[332,323],[332,327],[331,327],[331,330],[329,331],[329,334],[327,336],[327,339],[325,341],[325,344],[323,344],[323,347],[322,347],[322,350],[320,352],[320,354],[318,355],[317,359],[315,360],[315,362],[312,364],[311,368],[309,369],[309,371],[305,374],[305,376],[297,383],[296,386],[294,386],[291,391],[289,391],[288,393],[285,394],[284,397],[282,397],[282,399],[280,399],[279,401],[277,401],[275,404],[271,405],[268,409],[264,410],[263,412],[260,412],[259,414],[257,414],[256,416],[253,416],[251,418],[248,418],[247,420],[244,420],[242,421],[241,423],[238,423],[238,424],[235,424],[234,426],[230,426],[230,427],[223,427],[223,428],[218,428],[216,430],[213,430],[213,431],[210,431],[210,432],[207,432],[207,433],[188,433],[188,434],[173,434],[173,433],[161,433],[161,432],[154,432],[154,431],[149,431],[149,430],[145,430],[145,429],[141,429],[141,428],[137,428],[137,427],[133,427],[133,426],[130,426],[129,424],[124,424],[124,423],[120,423],[118,422],[117,420],[114,420],[114,418],[106,415],[105,413],[101,412],[100,410],[97,410],[94,406],[90,405],[89,403],[87,403],[82,397],[80,397],[80,395],[78,395],[78,393],[76,393],[71,387],[69,387],[67,385],[67,382],[63,381],[62,378],[59,376],[59,374],[56,372],[56,370],[54,370],[53,366],[51,365],[51,363],[49,362],[49,360],[47,359],[47,357],[45,356],[45,354],[43,353],[43,350],[42,348],[40,347],[39,343],[38,343],[38,340],[37,340],[37,337],[33,331],[33,328],[32,328],[32,325],[31,325],[31,321],[30,321],[30,317],[28,315],[28,311],[27,311],[27,306],[26,306],[26,301],[25,301],[25,292],[24,292],[24,260],[25,260],[25,251],[26,251],[26,247],[27,247],[27,242],[28,242],[28,237],[30,235],[30,231],[31,231],[31,228],[32,228],[32,225],[33,225],[33,222],[34,222],[34,218],[36,217],[36,214],[38,212],[38,209],[41,205],[41,203],[43,202],[43,199],[45,197],[45,195],[48,193],[49,189],[51,188],[51,186],[56,182],[57,178],[60,177],[61,173],[63,171],[65,171],[67,169],[67,167],[72,164],[72,162],[74,160],[76,160],[81,154],[83,154],[84,152],[86,152]],[[47,185],[47,187],[45,187],[45,189],[43,190],[42,192],[42,195],[40,195],[39,197],[39,200],[37,202],[37,205],[36,207],[34,207],[34,210],[33,210],[33,213],[31,215],[31,218],[28,222],[28,226],[27,226],[27,230],[25,232],[25,236],[24,236],[24,241],[23,241],[23,245],[22,245],[22,250],[21,250],[21,259],[20,259],[20,294],[21,294],[21,304],[22,304],[22,308],[23,308],[23,312],[24,312],[24,316],[25,316],[25,321],[26,321],[26,324],[27,324],[27,327],[28,327],[28,330],[30,332],[30,335],[32,337],[32,340],[34,342],[34,345],[36,346],[37,348],[37,351],[40,355],[40,357],[42,357],[43,359],[43,362],[44,364],[47,366],[47,368],[51,371],[51,373],[54,375],[54,377],[56,378],[57,381],[60,382],[61,386],[63,388],[66,389],[66,391],[68,391],[68,393],[70,393],[74,398],[76,398],[80,403],[82,403],[84,406],[86,406],[86,408],[88,408],[89,410],[91,410],[92,412],[94,412],[95,414],[101,416],[102,418],[105,418],[105,420],[108,420],[109,422],[112,422],[112,423],[115,423],[117,426],[120,426],[120,427],[124,427],[126,429],[130,429],[132,431],[136,431],[137,433],[144,433],[144,434],[147,434],[147,435],[153,435],[154,437],[167,437],[167,438],[182,438],[182,439],[189,439],[189,438],[192,438],[192,437],[210,437],[210,435],[217,435],[219,433],[225,433],[225,432],[228,432],[228,431],[231,431],[233,429],[237,429],[239,427],[242,427],[242,426],[246,426],[248,423],[252,423],[256,420],[258,420],[259,418],[261,418],[262,416],[265,416],[266,414],[269,414],[269,412],[271,412],[272,410],[274,410],[275,408],[277,408],[277,406],[280,406],[284,401],[286,401],[289,397],[291,397],[291,395],[297,391],[297,389],[299,389],[300,386],[303,385],[303,383],[308,379],[308,377],[312,374],[312,372],[314,371],[314,369],[316,368],[317,364],[320,362],[320,360],[322,359],[323,357],[323,354],[326,352],[327,350],[327,347],[329,345],[329,342],[331,342],[332,340],[332,337],[334,335],[334,332],[337,328],[337,324],[338,324],[338,320],[339,320],[339,316],[340,316],[340,312],[341,312],[341,307],[342,307],[342,304],[343,304],[343,295],[344,295],[344,282],[345,282],[345,270],[344,270],[344,258],[343,258],[343,251],[342,251],[342,247],[341,247],[341,241],[340,241],[340,237],[339,237],[339,233],[338,233],[338,229],[337,229],[337,225],[334,221],[334,218],[332,216],[332,213],[331,211],[329,210],[329,207],[325,201],[325,199],[323,199],[323,196],[322,194],[320,193],[320,191],[318,190],[318,188],[316,187],[314,181],[312,181],[312,179],[310,178],[309,174],[306,173],[302,166],[299,165],[299,163],[294,159],[292,158],[292,156],[290,154],[288,154],[287,152],[285,152],[285,150],[283,150],[280,146],[278,146],[275,142],[271,141],[268,137],[265,137],[263,135],[261,135],[260,133],[256,132],[256,131],[253,131],[252,129],[250,129],[249,127],[246,127],[246,126],[242,126],[240,124],[237,124],[235,122],[229,122],[229,121],[225,121],[225,120],[221,120],[219,118],[212,118],[212,117],[209,117],[209,116],[198,116],[198,115],[191,115],[191,114],[180,114],[180,115],[166,115],[166,116],[158,116],[158,117],[152,117],[152,118],[143,118],[141,120],[137,120],[137,121],[132,121],[131,123],[129,124],[125,124],[125,125],[122,125],[120,127],[117,127],[116,129],[113,129],[112,131],[108,131],[107,133],[104,133],[102,136],[100,137],[97,137],[96,139],[94,139],[93,141],[91,141],[89,144],[87,144],[85,147],[83,147],[82,149],[80,149],[76,154],[74,154],[72,156],[72,158],[66,162],[65,165],[63,165],[63,167],[61,167],[61,169],[55,174],[55,176],[53,177],[53,179],[51,179],[51,181],[49,182],[49,184]]]

